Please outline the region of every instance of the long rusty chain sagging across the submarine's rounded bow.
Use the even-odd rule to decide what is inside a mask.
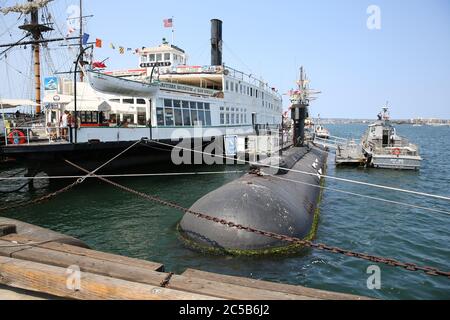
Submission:
[[[75,168],[77,168],[77,169],[79,169],[79,170],[81,170],[81,171],[83,171],[85,173],[89,173],[88,170],[86,170],[86,169],[84,169],[84,168],[82,168],[82,167],[80,167],[80,166],[78,166],[78,165],[76,165],[76,164],[74,164],[74,163],[72,163],[72,162],[70,162],[68,160],[65,160],[65,161],[68,164],[74,166]],[[209,215],[201,213],[201,212],[196,212],[196,211],[184,208],[184,207],[182,207],[182,206],[180,206],[180,205],[178,205],[176,203],[169,202],[169,201],[163,200],[163,199],[161,199],[159,197],[148,195],[148,194],[145,194],[143,192],[139,192],[139,191],[133,190],[131,188],[125,187],[123,185],[120,185],[120,184],[118,184],[116,182],[113,182],[111,180],[108,180],[106,178],[97,176],[95,174],[93,174],[93,176],[98,178],[98,179],[100,179],[103,182],[106,182],[106,183],[108,183],[108,184],[118,188],[118,189],[121,189],[121,190],[126,191],[128,193],[137,195],[137,196],[139,196],[141,198],[150,200],[150,201],[155,202],[155,203],[159,203],[159,204],[161,204],[163,206],[170,207],[172,209],[176,209],[176,210],[188,213],[188,214],[192,214],[192,215],[196,216],[197,218],[205,219],[205,220],[208,220],[208,221],[211,221],[211,222],[215,222],[215,223],[221,224],[223,226],[227,226],[229,228],[234,228],[234,229],[238,229],[238,230],[242,230],[242,231],[258,234],[258,235],[269,237],[269,238],[272,238],[272,239],[275,239],[275,240],[289,242],[289,243],[292,243],[292,244],[297,244],[297,245],[301,245],[301,246],[304,246],[304,247],[309,247],[309,248],[316,249],[316,250],[326,251],[326,252],[330,252],[330,253],[334,253],[334,254],[341,254],[341,255],[345,255],[347,257],[353,257],[353,258],[366,260],[366,261],[370,261],[370,262],[374,262],[374,263],[385,264],[385,265],[388,265],[388,266],[391,266],[391,267],[403,268],[403,269],[406,269],[406,270],[409,270],[409,271],[422,271],[425,274],[430,275],[430,276],[443,276],[443,277],[447,277],[447,278],[450,279],[450,272],[442,271],[442,270],[439,270],[437,268],[422,267],[422,266],[419,266],[419,265],[414,264],[414,263],[404,263],[404,262],[400,262],[400,261],[395,260],[395,259],[383,258],[383,257],[378,257],[378,256],[372,256],[372,255],[368,255],[368,254],[365,254],[365,253],[359,253],[359,252],[354,252],[354,251],[347,250],[347,249],[342,249],[342,248],[339,248],[339,247],[328,246],[328,245],[323,244],[323,243],[315,243],[315,242],[312,242],[312,241],[309,241],[309,240],[302,240],[302,239],[295,238],[295,237],[289,237],[289,236],[280,235],[280,234],[273,233],[273,232],[262,231],[262,230],[258,230],[258,229],[255,229],[255,228],[243,226],[243,225],[240,225],[240,224],[236,224],[234,222],[230,222],[230,221],[227,221],[227,220],[224,220],[224,219],[219,219],[219,218],[212,217],[212,216],[209,216]]]

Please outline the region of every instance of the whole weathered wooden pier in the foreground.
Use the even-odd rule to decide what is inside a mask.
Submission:
[[[160,263],[0,231],[0,300],[367,299],[199,270],[175,275]]]

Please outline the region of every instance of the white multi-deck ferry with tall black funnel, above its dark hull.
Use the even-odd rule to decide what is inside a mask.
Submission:
[[[61,154],[84,160],[108,156],[108,151],[141,139],[175,145],[188,138],[209,142],[230,137],[236,152],[245,152],[250,136],[280,130],[282,97],[267,83],[222,63],[220,20],[212,20],[211,42],[208,66],[190,66],[184,50],[163,41],[139,50],[137,69],[85,68],[87,81],[76,83],[76,95],[73,81],[57,79],[56,86],[53,81],[52,89],[57,89],[46,92],[42,101],[45,123],[5,129],[1,153],[33,161]],[[73,124],[62,136],[66,111]],[[148,161],[149,148],[137,149],[134,155]]]

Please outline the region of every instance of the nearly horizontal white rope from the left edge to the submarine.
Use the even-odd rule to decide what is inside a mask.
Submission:
[[[136,173],[136,174],[111,174],[96,175],[95,177],[86,176],[39,176],[39,177],[8,177],[1,178],[0,181],[21,181],[21,180],[58,180],[58,179],[79,179],[79,178],[140,178],[140,177],[168,177],[168,176],[201,176],[216,174],[237,174],[244,173],[243,170],[236,171],[206,171],[206,172],[168,172],[168,173]]]

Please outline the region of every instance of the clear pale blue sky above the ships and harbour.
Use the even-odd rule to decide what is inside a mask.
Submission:
[[[0,0],[0,4],[15,1]],[[58,19],[78,1],[59,0]],[[373,118],[387,100],[395,118],[450,118],[450,2],[447,0],[318,1],[84,1],[96,51],[112,69],[137,67],[136,56],[108,48],[154,46],[170,30],[190,63],[210,62],[210,19],[224,21],[224,62],[262,76],[287,92],[304,65],[312,86],[323,93],[313,115]],[[369,30],[366,10],[381,9],[381,30]],[[15,18],[5,17],[0,28]],[[0,34],[3,30],[0,29]],[[5,42],[8,38],[1,37]],[[11,62],[10,62],[11,63]],[[1,64],[1,62],[0,62]],[[4,68],[0,68],[2,78]],[[2,81],[3,83],[3,81]],[[6,89],[0,83],[0,92]],[[285,97],[285,105],[288,99]]]

